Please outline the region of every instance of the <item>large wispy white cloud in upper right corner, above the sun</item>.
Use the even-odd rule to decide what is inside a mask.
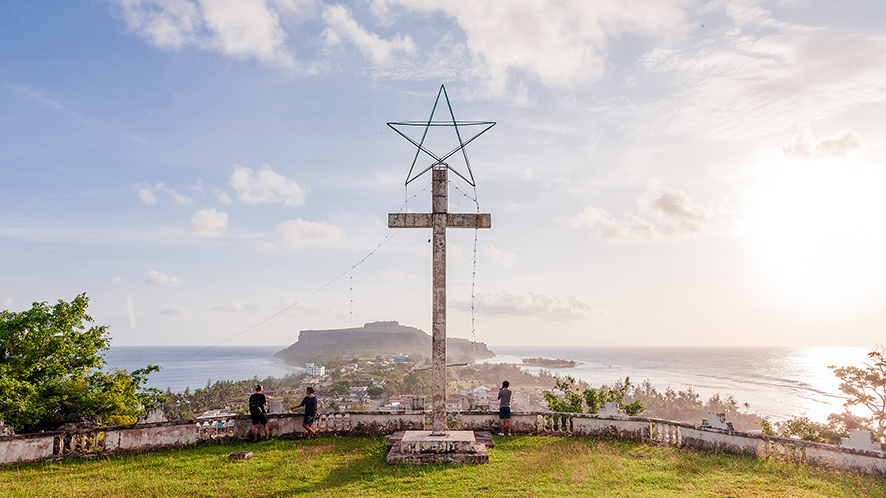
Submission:
[[[728,5],[733,29],[689,51],[658,48],[643,58],[682,88],[648,109],[669,132],[740,140],[886,102],[883,36],[835,34]]]

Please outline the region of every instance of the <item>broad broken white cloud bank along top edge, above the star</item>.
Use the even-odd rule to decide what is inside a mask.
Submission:
[[[473,80],[496,90],[519,76],[550,87],[596,81],[604,74],[611,40],[670,34],[687,24],[685,0],[371,0],[375,19],[362,23],[350,7],[320,0],[113,1],[130,31],[162,49],[195,47],[292,68],[297,63],[287,43],[316,32],[315,25],[304,26],[310,21],[319,24],[322,41],[299,46],[322,44],[327,50],[304,65],[309,73],[332,66],[323,59],[330,56],[328,49],[347,43],[377,70],[389,68],[387,77]],[[440,19],[452,24],[441,30]],[[419,47],[408,33],[381,36],[367,26],[372,21],[385,31],[402,21],[404,30],[416,30],[420,39],[427,38],[422,23],[433,22],[436,36]]]

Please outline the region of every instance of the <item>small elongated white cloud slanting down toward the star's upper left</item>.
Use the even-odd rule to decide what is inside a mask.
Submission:
[[[344,41],[353,43],[364,57],[374,64],[384,66],[391,62],[392,54],[404,52],[413,55],[415,43],[408,35],[400,33],[391,40],[383,40],[375,33],[370,33],[360,26],[351,15],[351,11],[343,5],[329,6],[323,11],[326,29],[323,37],[327,45],[339,45]]]

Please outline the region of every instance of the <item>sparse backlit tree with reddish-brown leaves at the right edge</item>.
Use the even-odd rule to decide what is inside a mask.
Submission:
[[[840,378],[840,391],[848,396],[842,414],[832,413],[828,420],[846,429],[871,430],[878,440],[886,436],[886,349],[874,346],[868,353],[869,362],[863,367],[829,366]],[[870,410],[870,417],[849,413],[849,408],[863,406]]]

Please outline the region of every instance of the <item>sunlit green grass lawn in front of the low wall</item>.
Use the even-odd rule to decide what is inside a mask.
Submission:
[[[253,459],[228,461],[241,450]],[[321,437],[19,464],[0,468],[0,496],[886,497],[881,477],[623,441],[496,437],[472,466],[385,454],[384,438]]]

